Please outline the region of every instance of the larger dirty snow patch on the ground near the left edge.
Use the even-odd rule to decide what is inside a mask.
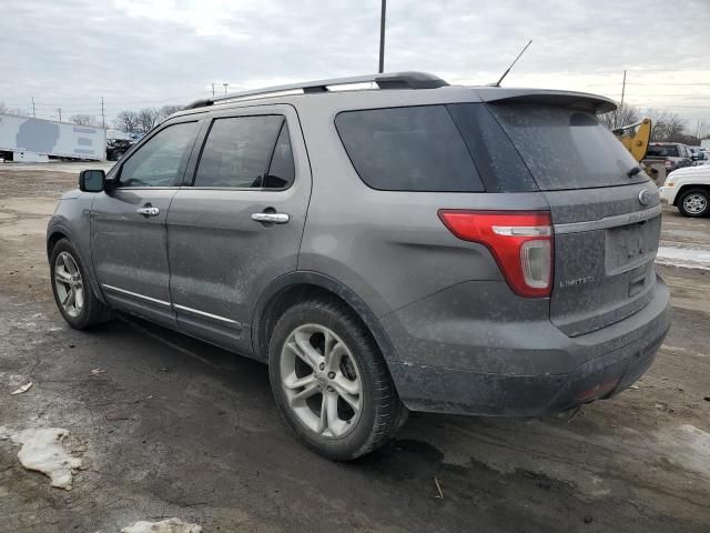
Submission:
[[[22,466],[36,470],[52,480],[52,486],[71,491],[72,476],[81,467],[81,459],[64,450],[69,431],[61,428],[23,430],[16,433],[0,428],[0,438],[10,439],[22,447],[18,459]]]

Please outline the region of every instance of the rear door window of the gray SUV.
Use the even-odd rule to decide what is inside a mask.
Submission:
[[[284,118],[275,114],[216,119],[202,150],[194,185],[236,189],[283,187],[278,183],[286,181],[287,175],[278,175],[284,172],[284,164],[278,160],[285,151],[280,135],[284,124]],[[278,152],[282,155],[277,157]],[[272,164],[272,157],[276,159],[276,165]]]

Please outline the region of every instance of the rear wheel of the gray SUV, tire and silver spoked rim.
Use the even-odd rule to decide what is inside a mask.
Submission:
[[[306,301],[282,315],[268,345],[268,371],[287,424],[328,459],[369,453],[406,418],[372,335],[335,302]]]

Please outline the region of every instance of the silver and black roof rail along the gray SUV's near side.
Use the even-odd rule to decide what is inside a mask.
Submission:
[[[336,90],[347,90],[346,86],[362,86],[374,83],[379,89],[438,89],[448,83],[443,79],[426,72],[392,72],[386,74],[354,76],[351,78],[334,78],[332,80],[307,81],[286,86],[266,87],[264,89],[253,89],[250,91],[233,92],[220,98],[196,100],[183,109],[197,109],[207,105],[227,103],[230,101],[266,98],[286,94],[311,94],[314,92],[328,92],[331,88]],[[301,92],[298,92],[301,91]]]

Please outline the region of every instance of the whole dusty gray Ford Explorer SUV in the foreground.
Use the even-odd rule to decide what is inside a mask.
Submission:
[[[59,310],[268,363],[287,424],[337,460],[409,410],[609,398],[671,321],[658,192],[597,121],[612,109],[416,72],[195,102],[62,197]]]

